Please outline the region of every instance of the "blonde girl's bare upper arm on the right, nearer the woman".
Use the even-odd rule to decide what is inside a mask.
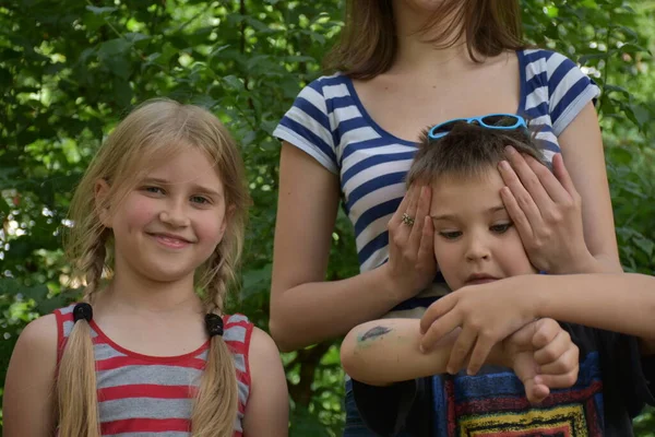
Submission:
[[[288,436],[289,397],[286,376],[275,343],[261,329],[252,330],[248,357],[251,387],[243,417],[243,435]]]

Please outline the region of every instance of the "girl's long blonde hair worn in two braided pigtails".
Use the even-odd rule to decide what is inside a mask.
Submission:
[[[202,268],[196,283],[203,290],[207,312],[223,312],[229,284],[243,246],[250,198],[237,145],[218,119],[205,109],[167,99],[135,108],[100,146],[78,186],[71,202],[72,227],[66,249],[86,287],[84,300],[93,303],[103,272],[112,267],[112,233],[100,221],[100,211],[112,211],[140,179],[167,158],[190,149],[201,150],[215,165],[224,185],[228,225],[223,240]],[[109,185],[96,199],[98,181]],[[99,437],[96,369],[91,327],[75,322],[59,364],[57,378],[59,435]],[[210,341],[205,371],[192,411],[195,436],[231,436],[238,410],[238,386],[231,353],[219,335]]]

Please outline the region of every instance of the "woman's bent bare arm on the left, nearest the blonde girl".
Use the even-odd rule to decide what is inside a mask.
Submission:
[[[403,274],[392,272],[390,261],[354,277],[325,282],[338,201],[337,177],[305,152],[284,143],[270,321],[271,334],[283,351],[343,335],[356,324],[377,319],[421,288],[407,293],[409,287],[401,284],[417,274],[422,285],[433,277],[433,271],[429,271],[433,267],[416,273],[420,263],[408,256],[405,259],[409,259],[407,264],[413,270],[407,268]],[[429,198],[421,199],[417,223],[421,214],[427,215],[428,208]],[[420,241],[421,229],[416,227]],[[424,251],[433,263],[431,236],[426,240],[430,250]]]

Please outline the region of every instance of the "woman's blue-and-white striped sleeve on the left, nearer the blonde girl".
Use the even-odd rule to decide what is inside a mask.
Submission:
[[[308,153],[327,170],[338,165],[322,78],[307,85],[284,115],[273,135]]]

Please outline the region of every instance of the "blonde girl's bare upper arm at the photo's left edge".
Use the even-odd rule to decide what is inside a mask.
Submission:
[[[29,323],[11,356],[2,404],[7,437],[53,436],[57,322],[53,315]]]

